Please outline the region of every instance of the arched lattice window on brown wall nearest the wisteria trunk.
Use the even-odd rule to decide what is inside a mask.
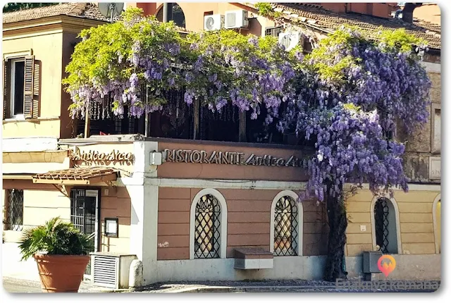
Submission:
[[[302,204],[295,192],[280,192],[271,205],[271,252],[274,256],[302,256]]]

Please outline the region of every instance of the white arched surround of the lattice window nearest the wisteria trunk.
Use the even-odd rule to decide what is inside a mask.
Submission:
[[[295,200],[297,206],[297,245],[296,253],[297,256],[302,256],[304,251],[303,239],[304,239],[304,207],[302,203],[299,202],[299,196],[292,190],[283,190],[279,192],[276,197],[274,197],[271,204],[271,217],[270,217],[270,231],[269,231],[269,251],[274,253],[274,216],[276,215],[276,204],[278,200],[282,197],[292,197]],[[274,258],[283,258],[287,256],[274,256]]]

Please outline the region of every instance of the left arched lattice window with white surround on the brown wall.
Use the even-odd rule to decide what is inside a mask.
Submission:
[[[227,206],[223,195],[211,188],[198,192],[190,218],[190,259],[225,258]]]

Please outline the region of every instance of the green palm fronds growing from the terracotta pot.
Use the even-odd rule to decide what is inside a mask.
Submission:
[[[72,223],[60,221],[59,217],[56,217],[44,225],[24,230],[19,248],[22,260],[26,260],[39,252],[86,255],[92,251],[93,242]]]

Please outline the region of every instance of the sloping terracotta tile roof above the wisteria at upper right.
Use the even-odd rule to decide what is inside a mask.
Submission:
[[[347,24],[359,27],[360,30],[371,37],[381,26],[385,30],[404,28],[409,34],[424,39],[428,47],[440,49],[440,26],[434,26],[433,23],[428,23],[424,20],[416,20],[414,24],[409,24],[400,19],[378,18],[359,13],[335,13],[321,6],[305,4],[274,3],[273,8],[274,11],[282,13],[285,20],[307,26],[314,25],[314,27],[326,32],[333,32],[342,25]],[[294,15],[297,16],[294,17]]]

